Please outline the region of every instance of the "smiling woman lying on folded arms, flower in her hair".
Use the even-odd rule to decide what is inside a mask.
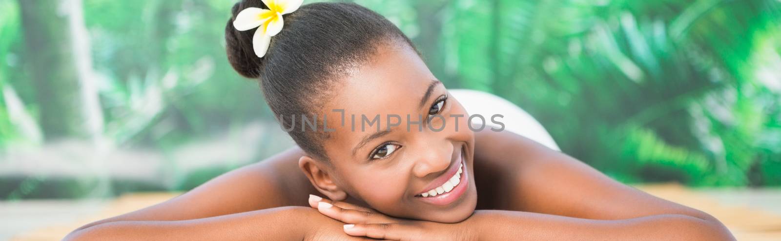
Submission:
[[[230,63],[298,147],[66,239],[733,239],[501,118],[472,125],[383,16],[298,5],[239,2],[226,26]]]

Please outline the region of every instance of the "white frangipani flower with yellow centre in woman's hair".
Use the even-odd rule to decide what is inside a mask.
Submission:
[[[280,33],[284,21],[282,15],[291,13],[301,6],[304,0],[262,0],[269,9],[247,8],[241,10],[234,19],[234,28],[239,31],[255,30],[252,36],[252,48],[255,55],[262,58],[269,50],[271,37]]]

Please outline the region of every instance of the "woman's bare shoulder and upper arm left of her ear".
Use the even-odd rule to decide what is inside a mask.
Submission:
[[[160,204],[93,222],[82,229],[105,222],[187,220],[306,205],[307,194],[314,189],[298,169],[298,158],[302,154],[300,148],[291,148],[266,160],[226,172]]]

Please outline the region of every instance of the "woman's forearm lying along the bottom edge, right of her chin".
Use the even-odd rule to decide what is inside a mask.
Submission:
[[[480,240],[734,240],[715,219],[683,214],[592,220],[521,211],[476,211],[473,218]]]

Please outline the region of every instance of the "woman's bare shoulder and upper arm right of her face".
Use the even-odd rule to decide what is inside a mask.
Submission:
[[[712,219],[619,183],[576,158],[515,133],[483,130],[475,139],[478,193],[482,199],[494,200],[490,203],[494,208],[590,219],[651,214]]]

